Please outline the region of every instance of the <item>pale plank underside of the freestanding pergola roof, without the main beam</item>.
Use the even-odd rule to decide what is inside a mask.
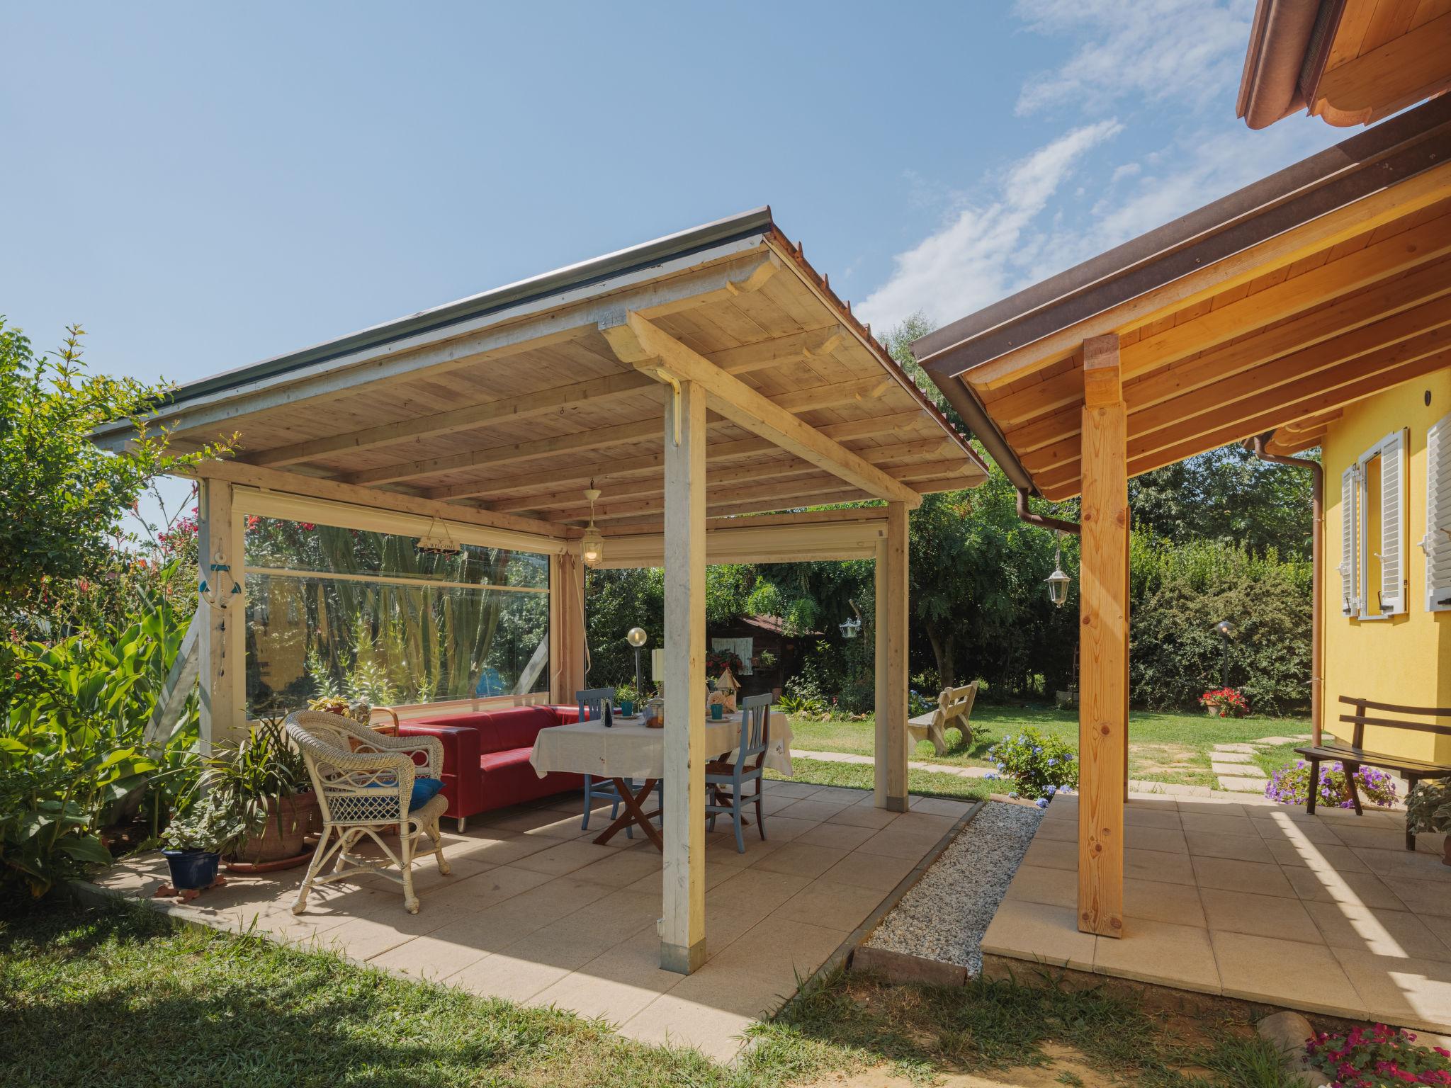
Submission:
[[[755,271],[724,290],[630,309],[913,492],[984,479],[966,440],[797,247],[772,229],[726,264]],[[588,302],[598,312],[601,297]],[[543,315],[547,323],[522,321],[508,347],[460,350],[400,376],[370,379],[360,368],[351,383],[257,411],[238,397],[219,422],[187,425],[183,411],[173,437],[184,445],[235,431],[247,466],[562,529],[588,521],[583,489],[593,480],[605,532],[659,522],[669,386],[622,361],[583,303],[575,308],[577,323],[564,306]],[[711,516],[879,498],[727,415],[712,412],[708,426]]]

